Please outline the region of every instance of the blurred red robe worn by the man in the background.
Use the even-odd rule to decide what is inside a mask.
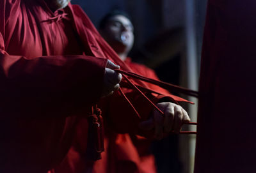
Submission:
[[[151,79],[157,79],[156,73],[150,70],[146,66],[141,64],[132,63],[131,59],[127,58],[125,63],[137,74],[143,75]],[[154,89],[159,92],[168,93],[168,91],[149,84],[150,89]],[[129,94],[126,91],[125,94]],[[113,98],[107,99],[108,102],[104,102],[106,109],[103,109],[104,114],[112,114],[111,116],[122,116],[122,107],[111,107],[115,106],[116,102],[123,102],[122,98],[114,96]],[[110,103],[109,103],[109,100]],[[114,102],[114,103],[112,103]],[[106,106],[106,104],[108,104]],[[108,108],[115,109],[109,110]],[[118,115],[119,114],[119,115]],[[156,163],[154,156],[150,153],[149,147],[151,140],[145,139],[138,135],[124,133],[118,134],[113,131],[111,123],[106,124],[106,137],[105,147],[106,151],[102,153],[102,159],[88,164],[86,159],[86,149],[81,149],[83,142],[81,139],[86,137],[86,126],[87,121],[84,119],[83,123],[77,126],[77,135],[72,149],[68,152],[67,158],[61,163],[61,166],[55,170],[56,173],[82,173],[92,169],[93,173],[155,173]],[[125,121],[120,122],[125,124]],[[112,129],[111,129],[112,128]],[[81,142],[80,145],[77,142]]]

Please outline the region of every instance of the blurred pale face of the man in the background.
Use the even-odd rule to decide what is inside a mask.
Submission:
[[[117,53],[129,52],[134,42],[132,23],[123,15],[115,15],[108,20],[102,36]]]

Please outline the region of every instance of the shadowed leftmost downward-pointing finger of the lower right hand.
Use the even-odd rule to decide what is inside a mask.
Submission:
[[[163,124],[164,117],[154,110],[154,125],[155,125],[155,138],[162,139],[163,138]]]

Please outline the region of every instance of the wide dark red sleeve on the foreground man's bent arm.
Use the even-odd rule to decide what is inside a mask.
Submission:
[[[0,33],[0,47],[4,47]],[[1,116],[69,116],[86,111],[102,91],[106,59],[43,56],[28,59],[0,49]]]

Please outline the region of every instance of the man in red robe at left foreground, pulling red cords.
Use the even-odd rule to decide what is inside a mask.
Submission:
[[[77,123],[119,87],[121,77],[111,70],[118,66],[107,59],[131,70],[79,6],[68,0],[0,0],[0,172],[47,172],[62,162]],[[154,112],[161,121],[147,120],[153,108],[142,107],[141,96],[130,93],[141,120],[154,126],[157,136],[189,121],[181,107],[169,103],[160,107],[165,118]],[[134,109],[120,103],[127,110],[122,118],[109,117],[113,126],[139,132]]]

